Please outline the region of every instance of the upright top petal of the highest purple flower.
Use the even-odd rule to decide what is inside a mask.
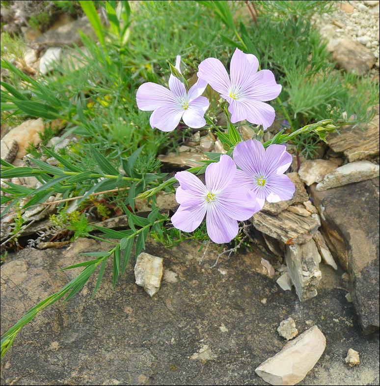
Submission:
[[[259,61],[254,55],[244,54],[237,48],[232,55],[230,64],[231,84],[236,88],[241,87],[243,90],[250,87],[250,78],[256,74],[258,67]]]

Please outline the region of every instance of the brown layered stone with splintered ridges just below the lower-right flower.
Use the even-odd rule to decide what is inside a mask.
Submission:
[[[288,210],[276,216],[260,211],[250,221],[258,231],[290,245],[310,240],[320,226],[315,217],[303,217]]]

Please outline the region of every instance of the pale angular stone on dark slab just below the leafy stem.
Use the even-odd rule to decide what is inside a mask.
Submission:
[[[163,276],[163,259],[161,257],[142,252],[137,256],[135,265],[135,278],[138,286],[150,297],[157,294]]]

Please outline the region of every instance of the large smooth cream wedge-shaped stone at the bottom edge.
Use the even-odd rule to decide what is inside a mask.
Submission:
[[[325,335],[313,326],[261,363],[255,372],[271,385],[296,385],[315,366],[325,348]]]

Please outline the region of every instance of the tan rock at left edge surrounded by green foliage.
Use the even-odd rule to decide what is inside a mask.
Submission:
[[[13,141],[16,141],[19,145],[19,151],[16,158],[22,159],[27,154],[26,148],[29,143],[32,142],[35,146],[41,142],[41,138],[38,133],[44,132],[44,122],[41,118],[29,119],[21,123],[21,125],[10,130],[3,137],[5,145],[10,148]]]

